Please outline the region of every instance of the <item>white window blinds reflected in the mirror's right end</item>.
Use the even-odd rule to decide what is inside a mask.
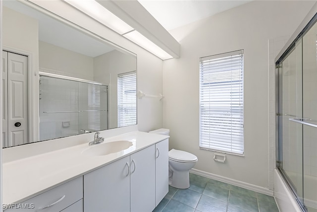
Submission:
[[[118,127],[137,124],[136,71],[118,74]]]

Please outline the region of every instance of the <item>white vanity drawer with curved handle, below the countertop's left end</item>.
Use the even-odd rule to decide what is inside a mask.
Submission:
[[[60,212],[83,198],[83,177],[53,188],[5,212]]]

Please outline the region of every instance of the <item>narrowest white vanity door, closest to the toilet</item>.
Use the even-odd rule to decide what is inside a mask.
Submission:
[[[155,144],[155,206],[168,192],[168,139]]]

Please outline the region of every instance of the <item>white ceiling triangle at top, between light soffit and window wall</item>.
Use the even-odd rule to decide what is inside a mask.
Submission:
[[[251,0],[138,0],[159,23],[171,30]]]

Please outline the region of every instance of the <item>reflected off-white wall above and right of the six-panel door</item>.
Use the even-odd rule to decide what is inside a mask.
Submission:
[[[39,71],[39,54],[38,54],[38,21],[34,18],[28,17],[7,7],[2,8],[2,40],[1,45],[3,50],[13,53],[23,54],[28,56],[28,74],[29,82],[28,86],[30,90],[38,90],[38,75]],[[15,27],[12,27],[15,26]],[[38,141],[38,129],[39,129],[39,93],[29,92],[28,102],[29,114],[28,117],[32,118],[32,122],[29,122],[29,136],[34,141]]]

